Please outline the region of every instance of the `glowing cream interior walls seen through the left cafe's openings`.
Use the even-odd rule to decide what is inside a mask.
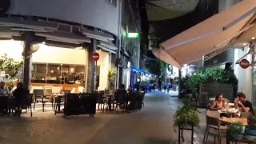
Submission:
[[[0,55],[7,54],[8,57],[22,61],[23,42],[0,40]],[[107,72],[110,69],[110,54],[104,51],[97,51],[100,58],[97,65],[100,66],[99,90],[107,88]],[[76,64],[86,65],[86,50],[67,49],[54,46],[40,45],[38,51],[32,54],[32,62]]]

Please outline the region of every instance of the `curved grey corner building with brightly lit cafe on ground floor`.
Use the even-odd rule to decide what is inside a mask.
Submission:
[[[106,71],[114,68],[118,51],[121,9],[121,0],[2,1],[0,53],[23,61],[18,74],[26,89],[105,90]],[[97,63],[92,60],[95,52],[100,55]]]

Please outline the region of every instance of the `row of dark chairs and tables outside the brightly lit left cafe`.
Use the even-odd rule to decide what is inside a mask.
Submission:
[[[74,91],[74,90],[73,90]],[[77,114],[96,114],[96,108],[104,112],[119,111],[131,112],[141,110],[144,106],[144,92],[133,91],[131,93],[116,94],[115,90],[97,90],[92,94],[74,94],[70,90],[62,90],[54,87],[34,87],[30,90],[29,100],[19,108],[30,111],[35,108],[42,112],[51,110],[54,114],[62,113],[64,116]],[[98,106],[96,106],[98,104]],[[12,115],[17,110],[14,97],[11,95],[0,96],[0,114]],[[23,113],[22,113],[23,114]]]

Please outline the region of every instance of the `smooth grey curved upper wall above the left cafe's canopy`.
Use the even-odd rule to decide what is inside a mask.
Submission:
[[[118,35],[118,4],[108,0],[10,0],[9,14],[77,22]],[[117,0],[119,2],[119,0]]]

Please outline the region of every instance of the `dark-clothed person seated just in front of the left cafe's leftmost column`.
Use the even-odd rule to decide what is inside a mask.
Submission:
[[[15,114],[14,115],[20,115],[22,114],[22,106],[26,106],[29,101],[29,92],[23,88],[22,82],[17,83],[17,88],[14,90],[13,93],[15,97]]]

